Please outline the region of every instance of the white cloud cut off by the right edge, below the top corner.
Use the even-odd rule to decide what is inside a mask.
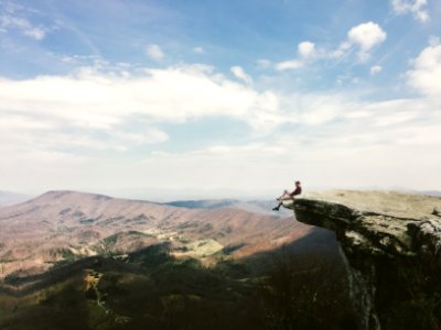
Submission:
[[[407,73],[408,84],[421,94],[441,99],[441,45],[426,47]]]

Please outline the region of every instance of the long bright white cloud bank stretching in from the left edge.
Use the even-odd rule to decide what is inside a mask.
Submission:
[[[258,92],[212,70],[195,65],[118,76],[83,68],[71,76],[3,78],[0,112],[97,130],[114,129],[133,116],[168,123],[220,116],[256,129],[280,121],[272,92]],[[244,81],[252,81],[241,68],[232,70]]]

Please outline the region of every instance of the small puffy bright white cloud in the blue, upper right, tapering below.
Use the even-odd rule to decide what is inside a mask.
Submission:
[[[366,62],[370,56],[370,51],[386,40],[386,32],[376,23],[367,22],[354,26],[347,33],[351,44],[359,47],[358,59]]]

